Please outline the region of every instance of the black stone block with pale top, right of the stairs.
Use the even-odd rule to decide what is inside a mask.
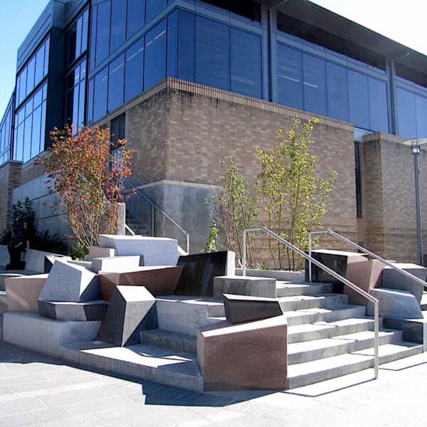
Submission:
[[[315,249],[312,251],[312,257],[325,264],[331,270],[342,275],[344,278],[347,274],[347,265],[367,260],[368,258],[363,253],[347,252],[347,251],[333,251],[330,249]],[[305,262],[305,280],[308,278],[308,262]],[[312,281],[320,283],[332,283],[334,285],[334,292],[342,293],[344,284],[339,280],[333,278],[324,270],[312,264]]]

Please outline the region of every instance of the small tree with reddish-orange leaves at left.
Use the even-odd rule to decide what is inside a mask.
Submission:
[[[51,139],[52,146],[37,162],[65,207],[78,243],[97,246],[100,233],[114,233],[117,227],[117,204],[122,201],[122,181],[131,174],[131,152],[124,148],[124,139],[112,152],[107,128],[82,127],[74,136],[71,126],[54,128]]]

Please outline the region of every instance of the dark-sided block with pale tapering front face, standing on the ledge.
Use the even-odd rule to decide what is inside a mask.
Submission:
[[[157,327],[155,301],[143,286],[117,286],[97,339],[117,347],[139,344],[139,332]]]

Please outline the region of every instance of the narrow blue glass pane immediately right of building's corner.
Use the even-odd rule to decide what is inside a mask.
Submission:
[[[194,14],[179,11],[178,78],[194,82]]]

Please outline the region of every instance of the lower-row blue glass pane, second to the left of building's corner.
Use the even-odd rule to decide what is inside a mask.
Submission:
[[[125,102],[142,93],[144,70],[144,40],[141,39],[126,51]]]

